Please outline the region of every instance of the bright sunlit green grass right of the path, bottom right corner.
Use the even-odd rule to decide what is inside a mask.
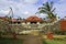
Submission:
[[[65,38],[54,38],[54,40],[43,40],[43,44],[66,44],[66,37]]]

